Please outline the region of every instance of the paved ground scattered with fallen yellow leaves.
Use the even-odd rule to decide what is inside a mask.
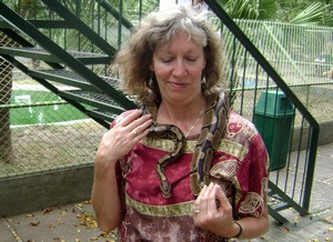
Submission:
[[[333,144],[319,148],[313,184],[312,216],[300,218],[283,211],[290,224],[280,225],[272,218],[270,231],[252,241],[333,241]],[[89,242],[114,241],[103,234],[92,216],[88,201],[46,209],[0,220],[0,242]]]

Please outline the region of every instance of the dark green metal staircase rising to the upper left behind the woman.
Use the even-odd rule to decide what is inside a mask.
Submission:
[[[18,43],[18,47],[0,47],[1,57],[88,117],[109,128],[110,121],[115,115],[137,105],[118,90],[117,79],[100,77],[87,65],[109,64],[112,62],[117,49],[84,24],[61,2],[41,1],[61,20],[26,20],[0,2],[0,30]],[[109,11],[112,10],[107,2],[104,2],[104,7],[109,8]],[[124,24],[129,27],[128,21],[124,21]],[[40,29],[53,28],[77,29],[100,52],[65,51],[40,31]],[[36,43],[32,43],[31,40]],[[22,63],[20,58],[40,60],[50,68],[34,70]],[[61,90],[54,82],[65,84],[71,89]]]

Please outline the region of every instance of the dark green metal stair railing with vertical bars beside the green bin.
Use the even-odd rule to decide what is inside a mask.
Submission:
[[[276,71],[272,63],[264,58],[258,42],[249,39],[241,28],[224,12],[218,1],[206,2],[216,13],[218,22],[222,27],[221,36],[224,40],[225,52],[230,58],[230,65],[228,65],[228,68],[230,68],[229,87],[231,93],[236,97],[233,109],[244,117],[248,117],[250,120],[253,120],[255,123],[258,103],[260,98],[265,94],[263,113],[260,114],[262,115],[263,121],[258,123],[258,125],[260,125],[258,129],[262,130],[261,134],[263,138],[266,137],[265,132],[272,132],[273,129],[272,135],[270,137],[271,140],[265,140],[265,143],[270,153],[271,165],[278,163],[278,171],[271,172],[270,174],[270,190],[272,195],[270,213],[282,223],[287,222],[287,220],[280,215],[279,211],[286,208],[293,208],[302,215],[305,215],[310,210],[311,189],[319,139],[319,123],[296,93],[291,90],[289,84],[278,73],[279,69]],[[265,40],[265,36],[261,34],[258,28],[246,26],[246,30],[255,32],[255,37],[261,41]],[[268,34],[265,29],[262,31]],[[272,33],[269,32],[269,34]],[[270,41],[270,44],[265,43],[265,47],[268,47],[266,49],[270,53],[275,53],[276,50],[271,50],[270,47],[278,43],[281,42],[276,42],[275,40]],[[266,56],[269,54],[266,53]],[[276,60],[275,62],[279,61],[280,60]],[[244,89],[246,84],[249,85],[249,82],[251,88]],[[271,107],[273,108],[273,115],[269,115],[269,112],[271,111],[269,110],[270,100],[266,94],[269,91],[271,91],[274,97],[278,97],[278,93],[282,93],[286,97],[283,101],[284,103],[281,104],[282,107],[279,107],[278,99],[271,101],[273,102],[273,107]],[[249,102],[246,100],[249,100]],[[295,114],[294,118],[286,115],[286,102],[291,102]],[[279,108],[282,112],[278,117],[275,111]],[[284,122],[287,119],[292,119],[289,127],[285,125],[286,122]],[[282,122],[280,130],[278,129],[279,122]],[[265,127],[269,127],[270,124],[272,124],[272,127],[265,129]],[[296,133],[297,128],[299,133]],[[280,144],[275,143],[278,145],[270,149],[274,139],[279,139],[276,134],[285,133],[289,130],[291,130],[291,133],[281,139],[283,143],[280,141]],[[293,143],[297,143],[295,144],[296,153],[301,153],[301,151],[304,150],[306,155],[302,159],[300,159],[300,155],[293,158],[291,153]],[[284,148],[284,145],[286,147]],[[274,153],[278,153],[276,158]],[[283,157],[283,153],[286,155]],[[275,202],[278,205],[273,204]]]

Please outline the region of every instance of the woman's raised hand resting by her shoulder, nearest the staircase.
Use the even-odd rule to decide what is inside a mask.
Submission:
[[[115,163],[149,133],[151,124],[151,115],[142,115],[142,110],[133,110],[125,117],[119,117],[113,128],[103,134],[97,151],[95,162],[105,165],[110,162]]]

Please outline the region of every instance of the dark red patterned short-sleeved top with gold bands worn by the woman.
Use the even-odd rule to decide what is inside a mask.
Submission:
[[[171,198],[161,193],[155,165],[172,151],[173,141],[145,138],[119,160],[118,184],[125,202],[125,215],[119,225],[120,241],[224,240],[193,224],[190,167],[195,143],[195,139],[188,140],[184,153],[164,169],[172,185]],[[268,164],[266,149],[255,127],[231,112],[210,178],[222,186],[235,218],[263,213],[268,201]]]

